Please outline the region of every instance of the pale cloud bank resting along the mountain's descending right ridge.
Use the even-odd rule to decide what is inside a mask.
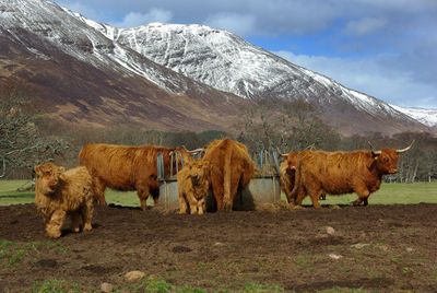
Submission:
[[[294,55],[276,51],[284,59],[327,75],[346,87],[380,98],[387,103],[437,108],[437,84],[413,79],[413,72],[390,67],[393,56],[351,60],[322,56]]]

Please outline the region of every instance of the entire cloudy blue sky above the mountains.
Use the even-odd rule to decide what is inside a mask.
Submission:
[[[117,27],[227,30],[390,104],[437,108],[437,0],[55,0]]]

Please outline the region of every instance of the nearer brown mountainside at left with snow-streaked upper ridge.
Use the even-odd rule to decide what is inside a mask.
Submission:
[[[151,61],[49,1],[1,2],[0,42],[0,79],[25,82],[55,119],[227,130],[246,103]]]

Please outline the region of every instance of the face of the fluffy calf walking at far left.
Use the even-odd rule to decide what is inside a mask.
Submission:
[[[54,163],[45,163],[35,166],[36,184],[40,192],[52,194],[59,184],[59,178],[64,172],[63,167],[58,167]]]

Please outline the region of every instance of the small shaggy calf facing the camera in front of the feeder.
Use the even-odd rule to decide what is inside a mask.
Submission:
[[[177,175],[179,194],[179,213],[187,213],[187,200],[190,207],[190,214],[203,214],[209,181],[210,162],[200,159],[188,162]]]

